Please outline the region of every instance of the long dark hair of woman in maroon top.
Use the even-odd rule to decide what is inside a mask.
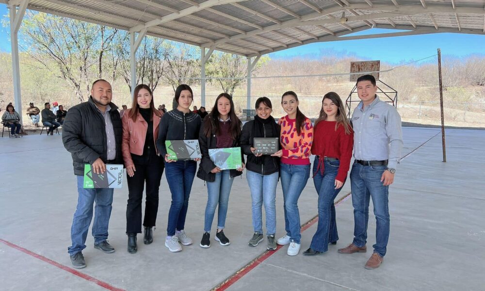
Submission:
[[[232,101],[232,97],[227,93],[221,93],[215,99],[214,107],[210,111],[209,115],[204,118],[204,134],[209,137],[210,134],[215,133],[215,135],[219,135],[220,126],[219,126],[219,110],[217,110],[217,102],[220,98],[226,97],[229,99],[231,104],[231,110],[229,110],[229,118],[231,119],[231,125],[229,127],[229,132],[233,140],[238,140],[239,136],[241,135],[241,126],[242,122],[239,120],[236,112],[234,111],[234,102]]]

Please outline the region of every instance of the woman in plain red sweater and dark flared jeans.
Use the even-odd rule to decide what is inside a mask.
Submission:
[[[345,114],[342,100],[335,92],[323,96],[322,110],[313,128],[311,153],[313,183],[318,193],[318,226],[305,256],[315,256],[337,243],[334,199],[342,189],[352,158],[354,132]]]

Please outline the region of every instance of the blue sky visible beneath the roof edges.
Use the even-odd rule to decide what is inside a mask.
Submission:
[[[6,16],[6,5],[0,5],[0,16]],[[6,19],[5,17],[2,17]],[[0,50],[10,51],[10,38],[8,27],[0,27]],[[382,33],[389,30],[372,29],[366,32],[356,32],[352,35],[366,33]],[[285,49],[269,54],[271,58],[291,58],[306,56],[319,58],[323,53],[332,51],[339,54],[357,55],[363,60],[381,60],[382,62],[398,64],[419,60],[436,54],[440,48],[446,56],[457,58],[470,54],[485,56],[485,35],[436,33],[400,37],[386,37],[363,40],[347,40],[338,42],[313,43],[305,46]]]

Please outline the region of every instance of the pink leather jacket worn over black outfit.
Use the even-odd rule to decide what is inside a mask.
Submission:
[[[143,116],[138,113],[136,120],[129,118],[129,113],[131,109],[127,109],[123,114],[121,121],[123,123],[123,140],[121,142],[121,152],[123,154],[123,160],[125,161],[125,166],[130,166],[133,164],[131,160],[131,153],[135,155],[143,155],[143,147],[145,146],[146,130],[148,129],[148,124],[146,123]],[[163,115],[162,112],[160,112]],[[158,126],[160,124],[160,119],[162,117],[157,116],[153,113],[153,141],[157,141],[158,137]],[[157,145],[154,143],[155,149]],[[158,151],[157,151],[158,154]]]

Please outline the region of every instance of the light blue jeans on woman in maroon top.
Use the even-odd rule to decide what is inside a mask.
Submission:
[[[205,214],[204,231],[210,232],[212,220],[217,204],[217,229],[224,229],[226,226],[227,204],[229,204],[229,194],[231,193],[232,182],[230,170],[224,170],[215,174],[215,181],[207,182],[207,206]]]

